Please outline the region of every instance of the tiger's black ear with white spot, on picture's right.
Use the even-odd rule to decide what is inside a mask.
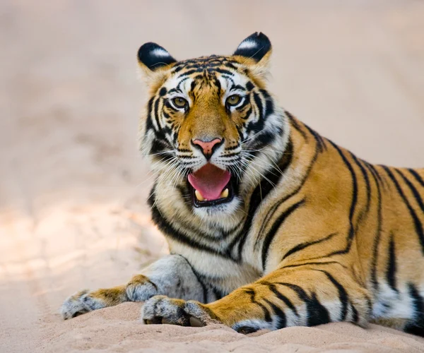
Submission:
[[[271,56],[271,42],[264,33],[254,32],[239,44],[232,55],[244,56],[247,59],[245,64],[265,68],[268,66],[269,56]]]

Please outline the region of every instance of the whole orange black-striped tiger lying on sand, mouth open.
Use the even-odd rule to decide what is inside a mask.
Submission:
[[[230,56],[140,47],[139,148],[170,254],[126,285],[71,295],[64,319],[143,301],[146,324],[423,335],[424,169],[366,162],[280,107],[270,56],[261,32]]]

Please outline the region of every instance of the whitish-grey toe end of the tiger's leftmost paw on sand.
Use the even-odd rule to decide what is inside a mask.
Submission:
[[[88,313],[88,311],[102,309],[105,306],[105,301],[90,295],[90,292],[84,289],[67,298],[61,306],[60,313],[64,320],[67,320],[83,313]]]

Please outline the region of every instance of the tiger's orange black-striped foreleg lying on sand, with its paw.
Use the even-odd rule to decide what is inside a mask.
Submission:
[[[338,263],[283,268],[211,304],[153,297],[143,320],[206,324],[220,321],[241,333],[286,326],[351,321],[366,325],[371,311],[367,290]]]

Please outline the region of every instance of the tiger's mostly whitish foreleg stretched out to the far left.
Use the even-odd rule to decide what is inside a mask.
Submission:
[[[61,306],[63,318],[66,320],[124,301],[145,301],[157,294],[207,301],[204,285],[199,282],[192,266],[182,256],[165,256],[141,272],[142,275],[134,276],[126,285],[93,292],[83,290],[71,295]]]

